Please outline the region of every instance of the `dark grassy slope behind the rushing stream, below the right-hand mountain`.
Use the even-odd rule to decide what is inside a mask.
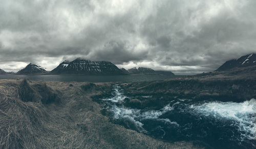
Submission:
[[[169,94],[180,98],[210,98],[242,102],[256,98],[256,66],[236,71],[202,73],[162,81],[122,83],[126,94]]]

